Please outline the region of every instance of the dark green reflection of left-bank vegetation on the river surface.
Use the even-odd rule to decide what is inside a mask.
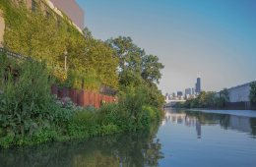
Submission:
[[[0,151],[1,166],[159,166],[159,126],[134,135],[58,142]]]

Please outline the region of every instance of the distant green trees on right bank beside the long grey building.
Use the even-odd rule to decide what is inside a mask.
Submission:
[[[229,101],[228,90],[224,88],[218,95],[214,91],[202,91],[196,98],[187,99],[184,103],[177,103],[179,108],[223,108]]]

